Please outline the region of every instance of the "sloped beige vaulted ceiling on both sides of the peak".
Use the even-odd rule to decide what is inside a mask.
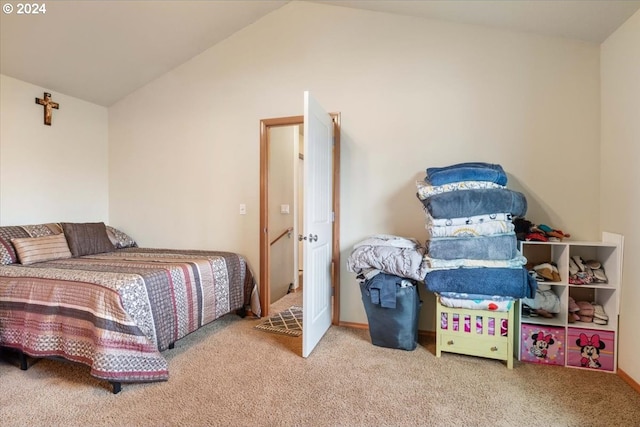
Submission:
[[[4,2],[0,72],[109,106],[289,1],[49,1],[18,14]],[[604,41],[640,1],[316,1],[468,24]],[[11,5],[8,7],[7,4]],[[11,10],[11,13],[9,12]]]

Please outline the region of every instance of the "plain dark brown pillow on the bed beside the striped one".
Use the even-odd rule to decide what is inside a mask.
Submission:
[[[104,222],[62,222],[60,225],[74,257],[115,250]]]

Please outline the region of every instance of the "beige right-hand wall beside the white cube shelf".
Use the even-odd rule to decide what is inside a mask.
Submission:
[[[601,227],[625,236],[618,366],[640,383],[640,12],[601,47]]]

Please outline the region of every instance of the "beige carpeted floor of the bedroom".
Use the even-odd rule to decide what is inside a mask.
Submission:
[[[299,297],[290,294],[292,297]],[[281,300],[282,301],[282,300]],[[299,304],[287,299],[274,312]],[[2,426],[638,426],[640,394],[617,375],[371,345],[332,326],[301,337],[226,316],[165,353],[168,382],[118,395],[81,365],[0,359]]]

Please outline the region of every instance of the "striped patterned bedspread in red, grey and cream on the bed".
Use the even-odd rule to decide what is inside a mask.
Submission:
[[[169,377],[161,351],[251,305],[254,277],[235,253],[127,248],[0,266],[0,346],[61,356],[117,382]],[[253,302],[253,304],[252,304]]]

